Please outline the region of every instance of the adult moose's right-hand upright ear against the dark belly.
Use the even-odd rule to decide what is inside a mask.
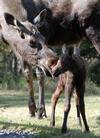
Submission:
[[[35,25],[37,25],[37,27],[41,27],[44,22],[45,22],[45,19],[46,19],[46,15],[47,15],[47,10],[44,9],[42,10],[33,20],[33,23]]]

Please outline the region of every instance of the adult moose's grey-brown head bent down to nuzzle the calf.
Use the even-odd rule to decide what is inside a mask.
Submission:
[[[42,19],[43,13],[45,11],[40,13]],[[29,21],[21,22],[13,15],[4,13],[4,22],[0,22],[0,26],[2,39],[11,46],[18,59],[50,71],[49,67],[57,61],[57,56],[47,47],[36,25]]]

